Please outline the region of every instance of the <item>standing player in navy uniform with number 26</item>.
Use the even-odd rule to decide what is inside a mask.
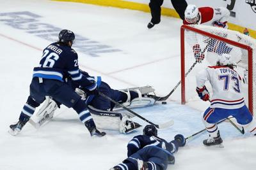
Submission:
[[[84,78],[78,66],[77,53],[72,49],[75,34],[63,29],[59,34],[59,41],[44,49],[38,67],[33,70],[33,79],[30,84],[30,95],[24,105],[19,122],[10,125],[10,134],[17,135],[29,121],[36,107],[51,96],[68,108],[76,110],[81,122],[87,127],[91,136],[104,136],[105,132],[97,130],[86,104],[80,96],[65,82],[70,76],[74,83],[83,85],[90,92],[97,90],[97,83]]]

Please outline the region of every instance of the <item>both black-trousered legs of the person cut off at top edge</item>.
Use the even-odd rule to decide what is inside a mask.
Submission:
[[[151,29],[154,27],[154,25],[159,24],[161,21],[161,6],[163,4],[164,0],[150,0],[149,8],[151,12],[151,20],[148,23],[147,27],[148,29]],[[184,11],[186,10],[186,7],[188,6],[187,2],[185,0],[171,0],[173,8],[177,11],[180,18],[184,20]]]

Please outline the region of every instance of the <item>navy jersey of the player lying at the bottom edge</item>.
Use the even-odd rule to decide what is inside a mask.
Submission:
[[[147,146],[157,146],[159,148],[163,148],[163,150],[169,155],[177,152],[176,147],[172,142],[168,143],[166,140],[158,138],[156,136],[138,135],[134,136],[134,138],[129,141],[127,145],[127,156],[129,157],[141,148]]]

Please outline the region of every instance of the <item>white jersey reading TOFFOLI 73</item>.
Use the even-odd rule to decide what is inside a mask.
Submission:
[[[205,81],[212,86],[210,108],[237,109],[244,106],[242,80],[234,69],[226,66],[207,67],[196,76],[197,87],[202,88]]]

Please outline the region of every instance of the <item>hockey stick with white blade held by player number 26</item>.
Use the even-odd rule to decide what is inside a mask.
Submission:
[[[99,92],[99,95],[102,96],[102,97],[104,97],[104,98],[106,98],[106,99],[108,99],[109,101],[111,101],[111,102],[117,104],[117,105],[120,106],[121,108],[124,108],[124,110],[129,111],[130,113],[132,113],[132,114],[135,115],[136,117],[141,118],[142,120],[144,120],[144,121],[147,122],[148,124],[151,124],[151,125],[156,126],[158,129],[164,129],[164,128],[170,127],[170,126],[172,126],[172,125],[174,124],[173,120],[170,120],[170,121],[168,121],[168,122],[166,122],[166,123],[164,123],[164,124],[159,124],[159,125],[154,124],[154,123],[150,122],[149,120],[147,120],[146,118],[141,117],[141,115],[139,115],[138,113],[135,113],[134,111],[132,111],[132,110],[130,110],[129,108],[125,107],[123,104],[117,103],[116,101],[114,101],[114,100],[111,99],[110,97],[106,96],[105,94],[102,94],[101,92]]]

